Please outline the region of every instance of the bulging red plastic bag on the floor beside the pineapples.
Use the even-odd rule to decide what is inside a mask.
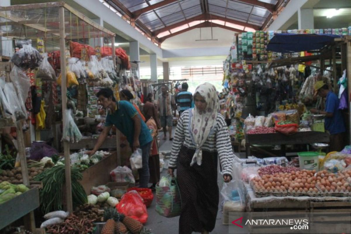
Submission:
[[[135,190],[132,190],[122,196],[121,201],[116,205],[119,213],[122,213],[141,223],[146,223],[148,215],[143,198]]]

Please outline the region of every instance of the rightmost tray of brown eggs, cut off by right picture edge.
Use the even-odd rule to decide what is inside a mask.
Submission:
[[[324,193],[349,193],[351,186],[347,182],[350,178],[351,170],[339,172],[337,175],[328,173],[326,170],[317,173],[317,187]]]

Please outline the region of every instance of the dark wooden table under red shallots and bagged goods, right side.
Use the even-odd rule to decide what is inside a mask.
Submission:
[[[312,143],[328,143],[330,141],[328,133],[323,132],[297,132],[292,135],[284,135],[282,133],[267,133],[267,134],[246,134],[246,158],[250,156],[251,145],[280,145],[282,155],[285,156],[285,145],[306,145]],[[264,151],[258,147],[254,147],[270,156],[276,156],[272,153]]]

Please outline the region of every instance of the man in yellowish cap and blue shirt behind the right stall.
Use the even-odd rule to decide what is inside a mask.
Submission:
[[[345,125],[341,111],[339,110],[338,96],[329,90],[323,81],[317,81],[314,85],[317,94],[326,98],[325,110],[311,109],[313,114],[325,115],[324,127],[330,133],[330,151],[342,151],[345,144]]]

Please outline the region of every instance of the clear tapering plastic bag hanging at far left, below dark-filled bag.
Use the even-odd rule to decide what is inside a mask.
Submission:
[[[25,118],[27,118],[27,108],[25,103],[31,87],[29,78],[19,67],[13,66],[10,73],[10,80],[16,90],[22,112],[25,114]]]

